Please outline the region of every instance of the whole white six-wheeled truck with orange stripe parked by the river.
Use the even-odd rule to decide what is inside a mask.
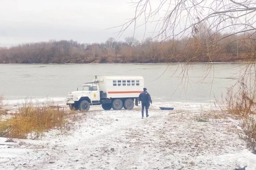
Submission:
[[[66,104],[70,109],[88,111],[92,105],[102,105],[104,110],[131,110],[134,100],[144,88],[142,76],[95,76],[93,82],[84,83],[81,90],[69,92]]]

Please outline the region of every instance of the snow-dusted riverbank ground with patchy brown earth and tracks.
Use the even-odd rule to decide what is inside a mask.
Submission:
[[[52,130],[38,140],[16,142],[0,138],[0,170],[233,170],[246,165],[256,170],[256,155],[238,138],[236,126],[210,109],[210,104],[155,102],[150,116],[141,119],[140,106],[109,111],[92,106],[68,132]]]

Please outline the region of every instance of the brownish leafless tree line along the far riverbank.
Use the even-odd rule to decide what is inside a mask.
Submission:
[[[208,34],[207,34],[208,35]],[[251,61],[255,38],[214,34],[205,31],[193,37],[138,41],[108,38],[103,43],[49,40],[0,48],[0,63],[166,63],[166,62],[246,62]],[[218,40],[218,41],[216,41]]]

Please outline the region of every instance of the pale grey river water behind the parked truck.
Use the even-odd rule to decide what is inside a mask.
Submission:
[[[142,75],[157,102],[212,102],[237,82],[243,63],[191,64],[0,64],[0,94],[64,101],[68,92],[95,75]],[[184,74],[185,73],[185,74]],[[183,75],[183,79],[182,79]]]

